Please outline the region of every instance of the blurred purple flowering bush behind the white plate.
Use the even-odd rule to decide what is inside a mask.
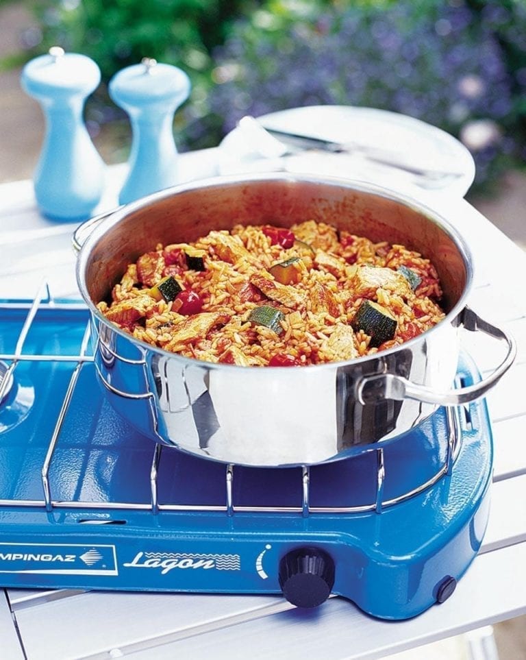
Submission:
[[[486,13],[489,23],[509,21],[496,0],[488,0]],[[291,16],[278,31],[240,21],[214,61],[242,62],[244,75],[214,86],[210,109],[224,118],[224,132],[243,114],[317,103],[402,112],[455,136],[469,122],[486,121],[509,154],[512,84],[526,86],[526,74],[512,80],[492,27],[477,19],[456,0],[427,12],[409,2],[331,5],[323,15]],[[490,146],[474,150],[483,178],[499,156]]]

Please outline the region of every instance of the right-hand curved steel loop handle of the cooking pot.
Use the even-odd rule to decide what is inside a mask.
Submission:
[[[464,308],[460,322],[466,330],[471,332],[479,330],[508,344],[508,352],[505,358],[487,378],[483,378],[468,387],[451,389],[449,392],[436,392],[429,389],[429,387],[411,382],[403,376],[397,376],[397,374],[366,376],[356,384],[356,396],[360,403],[372,404],[386,399],[397,401],[415,399],[424,403],[438,404],[439,406],[458,406],[484,396],[512,366],[517,352],[516,342],[509,332],[492,326],[491,323],[481,319],[468,307]]]

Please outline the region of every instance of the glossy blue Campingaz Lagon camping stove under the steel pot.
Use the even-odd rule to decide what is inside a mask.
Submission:
[[[155,445],[95,380],[88,310],[0,305],[0,585],[337,594],[385,619],[443,602],[479,550],[484,402],[314,467],[222,465]],[[477,370],[462,359],[463,384]]]

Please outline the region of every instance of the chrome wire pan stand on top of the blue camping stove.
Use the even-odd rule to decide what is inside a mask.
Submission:
[[[225,467],[225,504],[223,505],[201,505],[201,504],[160,504],[158,501],[158,469],[160,464],[160,458],[162,454],[162,445],[156,444],[155,449],[153,450],[153,460],[151,463],[150,469],[150,491],[151,491],[151,501],[149,503],[138,504],[133,502],[86,502],[86,501],[65,501],[65,500],[53,500],[51,495],[51,483],[49,480],[49,468],[51,461],[53,459],[53,452],[55,451],[55,446],[57,444],[58,438],[60,437],[60,432],[62,430],[62,425],[66,417],[71,399],[73,398],[73,392],[75,391],[75,386],[79,378],[80,371],[84,364],[93,363],[94,357],[92,355],[87,355],[88,345],[90,342],[90,323],[88,322],[86,330],[84,331],[84,336],[80,345],[80,350],[77,355],[57,355],[57,354],[24,354],[23,347],[29,329],[32,327],[32,323],[38,313],[38,310],[41,308],[48,308],[50,310],[75,310],[75,309],[85,309],[84,304],[75,304],[75,303],[55,303],[51,298],[49,292],[49,286],[47,282],[42,282],[41,286],[38,289],[38,293],[34,300],[27,303],[20,302],[3,302],[1,307],[4,309],[25,309],[28,308],[27,317],[23,323],[20,334],[18,335],[18,340],[16,342],[14,354],[0,354],[0,360],[7,360],[8,365],[5,362],[1,363],[5,367],[0,371],[0,404],[3,398],[7,395],[12,382],[13,374],[16,366],[24,361],[38,361],[42,360],[45,362],[71,362],[75,363],[75,368],[71,374],[71,378],[64,395],[64,400],[62,401],[62,406],[58,414],[57,420],[55,422],[55,427],[51,439],[49,441],[49,446],[47,448],[47,453],[45,456],[44,463],[41,470],[41,481],[42,489],[44,491],[43,500],[5,500],[0,499],[0,506],[13,506],[13,507],[45,507],[46,511],[51,512],[53,509],[129,509],[129,510],[143,510],[151,511],[152,513],[158,513],[158,511],[205,511],[205,512],[225,512],[227,515],[234,515],[236,511],[243,513],[301,513],[304,517],[307,517],[310,513],[364,513],[367,511],[376,511],[380,513],[382,509],[386,506],[392,506],[393,504],[398,504],[407,500],[412,496],[421,493],[425,489],[434,485],[440,478],[450,474],[453,462],[460,450],[460,419],[458,415],[458,408],[446,408],[447,412],[447,428],[448,428],[448,440],[447,440],[447,452],[445,456],[444,463],[441,465],[438,472],[429,478],[425,483],[420,486],[412,489],[408,493],[404,493],[397,498],[392,498],[391,500],[384,500],[384,482],[386,477],[386,468],[384,465],[384,450],[377,449],[377,483],[376,483],[376,499],[375,502],[371,504],[362,504],[358,506],[311,506],[310,505],[310,468],[307,465],[304,465],[302,468],[302,498],[301,506],[234,506],[233,502],[233,486],[234,486],[234,465],[226,465]],[[99,342],[97,338],[97,343]],[[96,348],[96,347],[95,347]],[[257,468],[256,468],[257,469]],[[277,468],[279,469],[279,468]]]

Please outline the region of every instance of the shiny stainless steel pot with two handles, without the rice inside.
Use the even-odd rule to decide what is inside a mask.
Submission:
[[[236,223],[290,226],[305,219],[430,258],[447,315],[407,343],[364,358],[310,367],[237,367],[183,358],[119,330],[95,304],[127,264],[156,243],[192,241]],[[91,311],[95,366],[114,407],[155,441],[225,463],[310,465],[378,448],[438,406],[479,398],[510,367],[515,343],[466,307],[471,255],[430,208],[371,184],[314,176],[216,178],[171,188],[82,225],[77,281]],[[490,376],[453,389],[458,328],[505,343]]]

